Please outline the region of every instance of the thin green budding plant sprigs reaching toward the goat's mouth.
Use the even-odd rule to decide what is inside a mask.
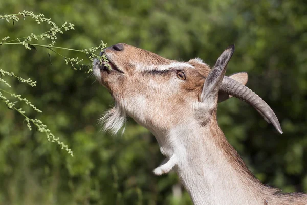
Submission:
[[[90,73],[92,72],[92,66],[93,66],[93,61],[94,58],[98,58],[100,63],[102,64],[103,62],[108,62],[107,58],[105,55],[99,56],[96,54],[97,51],[102,52],[104,48],[106,48],[107,44],[105,44],[103,41],[101,41],[101,44],[97,47],[91,47],[88,49],[82,49],[82,50],[77,50],[77,49],[71,49],[71,48],[64,48],[64,47],[58,47],[55,46],[56,40],[58,38],[59,34],[63,34],[63,32],[74,30],[74,25],[71,23],[64,22],[60,27],[55,24],[50,18],[46,18],[45,15],[43,14],[38,14],[35,15],[32,11],[23,11],[19,12],[17,14],[7,14],[7,15],[0,15],[0,20],[6,20],[7,22],[10,23],[10,21],[13,22],[13,25],[15,22],[18,22],[20,20],[20,17],[22,17],[24,20],[26,17],[32,17],[32,19],[37,22],[38,25],[45,23],[51,26],[49,31],[43,32],[41,34],[33,34],[31,33],[29,36],[22,37],[22,38],[16,38],[13,40],[9,40],[10,36],[6,36],[2,38],[0,41],[0,45],[23,45],[26,49],[31,50],[31,49],[36,49],[36,47],[43,47],[46,49],[49,49],[56,53],[57,55],[61,56],[64,58],[64,62],[67,65],[70,65],[70,67],[74,70],[85,70],[84,72]],[[39,44],[39,43],[33,43],[33,41],[38,41],[38,40],[47,40],[51,41],[49,44]],[[77,58],[69,58],[66,56],[63,56],[57,50],[69,50],[73,52],[81,52],[86,54],[87,58],[92,62],[90,65],[85,65],[83,64],[83,59]],[[108,64],[106,64],[108,66]],[[108,69],[111,69],[111,67],[108,67]],[[28,85],[34,87],[36,86],[36,81],[31,80],[30,78],[24,79],[21,77],[16,76],[13,72],[10,71],[5,71],[0,69],[0,83],[5,84],[8,87],[11,87],[11,85],[3,78],[4,76],[10,76],[10,77],[15,77],[19,80],[21,83],[27,83]],[[11,102],[4,94],[9,95],[12,98],[15,98],[17,101]],[[30,106],[33,108],[35,111],[41,113],[42,111],[38,109],[36,106],[34,106],[29,100],[26,98],[22,98],[21,95],[14,94],[11,92],[8,92],[5,89],[0,89],[0,100],[2,100],[6,106],[9,109],[13,109],[20,113],[20,115],[25,117],[25,121],[27,122],[27,127],[29,130],[32,130],[32,125],[31,123],[37,127],[39,132],[43,132],[47,135],[48,141],[51,142],[56,142],[58,143],[62,149],[65,149],[71,156],[73,156],[73,152],[71,149],[68,148],[67,145],[65,145],[63,142],[59,140],[59,138],[56,138],[52,132],[47,128],[45,124],[42,123],[41,120],[35,119],[35,118],[30,118],[26,115],[26,112],[22,108],[17,108],[16,104],[18,102],[24,102],[26,105]]]

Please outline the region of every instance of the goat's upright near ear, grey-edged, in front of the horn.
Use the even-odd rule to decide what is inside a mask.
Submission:
[[[215,106],[218,90],[224,78],[227,64],[234,52],[234,45],[230,45],[220,57],[218,57],[213,69],[210,71],[201,94],[201,102]]]

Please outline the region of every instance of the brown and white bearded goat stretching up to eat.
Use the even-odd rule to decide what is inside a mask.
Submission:
[[[111,66],[94,62],[93,72],[115,100],[102,121],[116,133],[126,116],[155,135],[166,160],[153,172],[174,169],[195,205],[307,204],[307,195],[284,194],[249,171],[218,127],[217,103],[231,96],[251,104],[282,133],[273,110],[247,88],[246,73],[225,76],[234,52],[228,47],[210,70],[201,59],[165,59],[124,43],[106,48]]]

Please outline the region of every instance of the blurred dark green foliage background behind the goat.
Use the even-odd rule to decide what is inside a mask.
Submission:
[[[283,134],[235,98],[219,105],[218,122],[263,183],[284,192],[307,191],[306,1],[0,1],[1,15],[23,10],[43,13],[58,25],[75,24],[74,31],[59,36],[61,47],[125,42],[166,58],[200,57],[213,65],[234,43],[227,75],[248,72],[247,86],[273,108]],[[0,38],[47,30],[31,18],[14,26],[0,21]],[[113,104],[107,90],[60,56],[50,53],[51,65],[50,51],[37,50],[0,47],[2,69],[37,81],[31,88],[13,80],[6,89],[40,108],[37,115],[25,107],[72,148],[74,157],[45,134],[29,131],[24,118],[0,102],[0,204],[191,204],[176,173],[153,175],[163,156],[152,134],[131,119],[123,136],[100,131],[97,119]]]

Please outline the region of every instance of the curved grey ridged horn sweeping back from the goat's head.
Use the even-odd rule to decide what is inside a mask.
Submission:
[[[277,131],[282,134],[280,124],[274,111],[251,89],[232,78],[225,76],[220,86],[220,90],[252,105],[267,122],[271,122]]]

